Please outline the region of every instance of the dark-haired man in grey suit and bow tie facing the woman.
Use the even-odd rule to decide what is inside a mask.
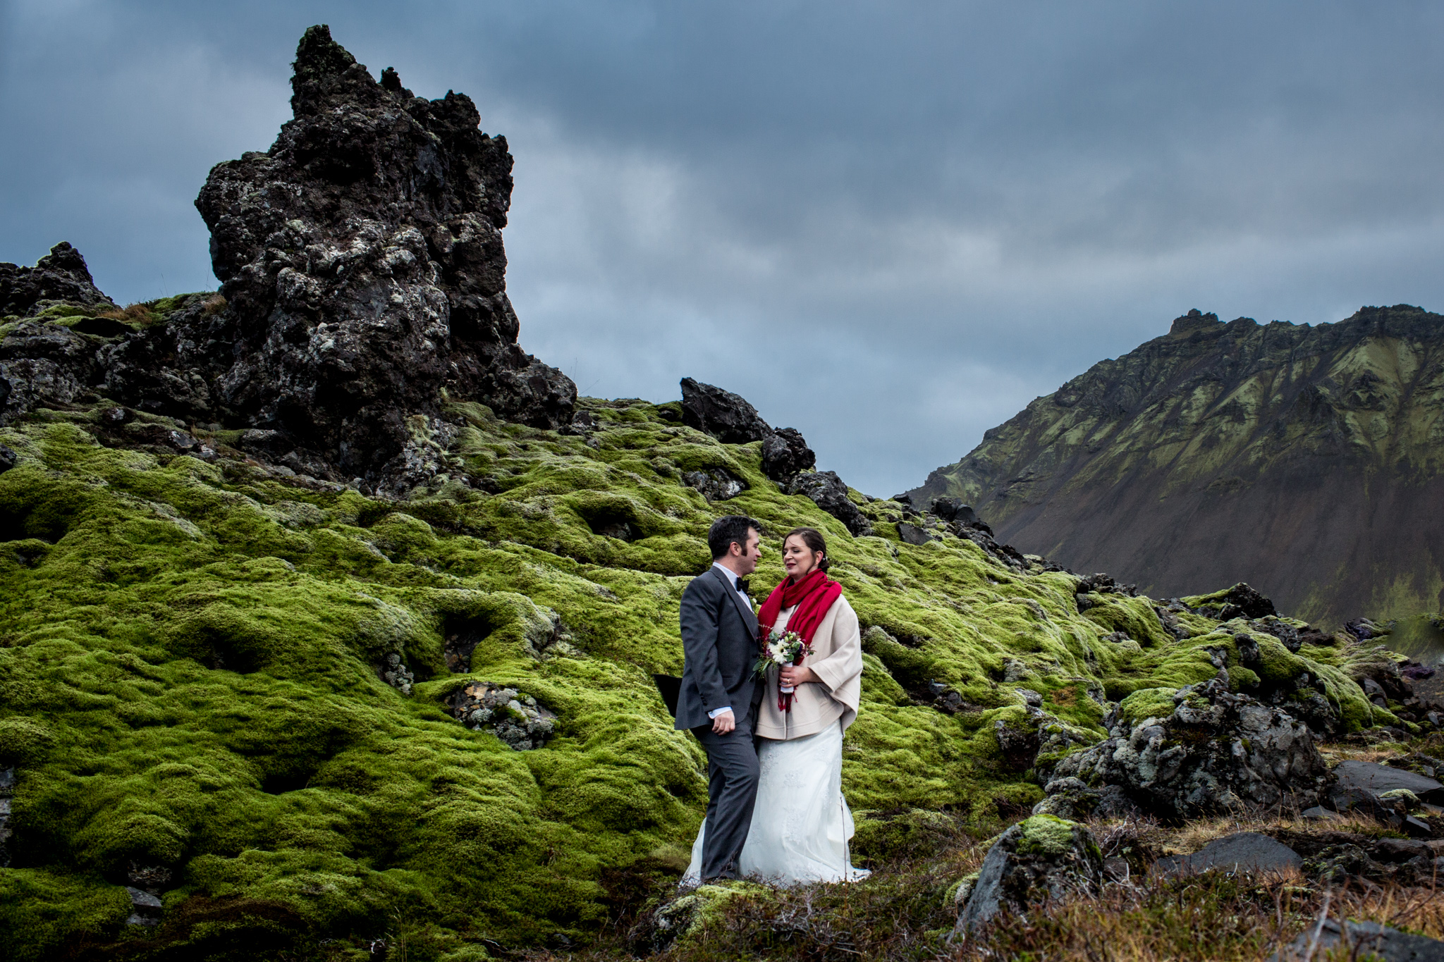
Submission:
[[[741,578],[757,568],[761,542],[758,524],[751,518],[718,518],[708,532],[712,567],[682,593],[686,661],[677,728],[690,728],[708,753],[703,881],[739,877],[738,857],[757,803],[752,720],[762,688],[752,682],[757,616]]]

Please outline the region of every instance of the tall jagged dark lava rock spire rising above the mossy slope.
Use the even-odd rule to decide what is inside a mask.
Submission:
[[[217,164],[196,198],[234,326],[222,402],[365,476],[443,397],[569,418],[576,387],[517,346],[505,138],[464,94],[374,81],[326,26],[300,39],[292,89],[271,149]]]

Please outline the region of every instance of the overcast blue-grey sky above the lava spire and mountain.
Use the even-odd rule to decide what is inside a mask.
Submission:
[[[0,260],[214,288],[306,26],[516,156],[521,345],[891,495],[1190,307],[1444,310],[1444,4],[0,0]]]

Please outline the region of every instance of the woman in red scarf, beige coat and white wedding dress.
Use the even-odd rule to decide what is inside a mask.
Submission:
[[[754,733],[761,776],[738,868],[780,884],[866,878],[848,855],[852,812],[842,798],[842,733],[858,717],[862,639],[858,616],[827,577],[827,542],[816,528],[783,539],[787,577],[762,601],[762,636],[791,630],[812,653],[770,669]],[[783,692],[791,687],[791,694]],[[683,881],[696,881],[702,839]]]

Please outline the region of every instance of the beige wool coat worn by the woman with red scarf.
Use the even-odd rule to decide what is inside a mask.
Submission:
[[[796,607],[777,616],[775,627],[786,627]],[[777,710],[778,671],[768,669],[762,691],[762,705],[757,710],[752,731],[764,738],[787,740],[817,734],[842,720],[843,730],[858,717],[862,698],[862,635],[858,613],[848,599],[838,596],[817,626],[812,639],[813,653],[803,665],[812,668],[819,681],[799,685],[793,694],[793,710]]]

